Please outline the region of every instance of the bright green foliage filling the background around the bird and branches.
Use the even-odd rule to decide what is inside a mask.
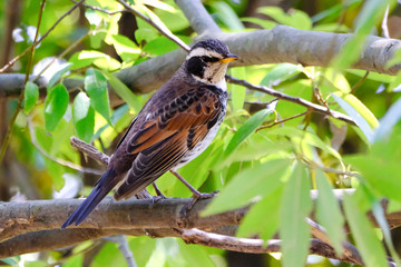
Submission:
[[[186,43],[193,40],[195,33],[173,0],[130,2],[162,29],[173,32]],[[331,7],[324,7],[324,1],[317,1],[322,2],[323,8],[313,17],[296,6],[291,12],[278,7],[261,7],[257,12],[270,19],[243,16],[244,7],[250,2],[209,0],[205,6],[222,29],[228,32],[248,30],[246,28],[251,27],[245,22],[252,22],[251,26],[263,29],[272,29],[281,23],[303,30],[356,34],[327,68],[277,63],[234,68],[229,75],[326,105],[348,113],[356,126],[310,112],[278,123],[282,119],[304,112],[305,108],[283,100],[272,103],[272,96],[228,85],[228,112],[217,137],[203,155],[179,172],[203,191],[222,191],[204,210],[204,215],[254,204],[237,235],[258,235],[270,239],[278,231],[283,239],[283,266],[304,266],[306,259],[312,260],[307,258],[310,227],[305,222],[312,209],[310,189],[320,192],[316,201],[317,222],[325,227],[336,251],[342,253],[341,244],[345,240],[342,229],[346,220],[368,266],[385,266],[381,241],[390,241],[390,237],[378,234],[366,219],[365,211],[376,210],[382,198],[388,198],[392,204],[401,201],[401,182],[398,179],[401,172],[401,100],[397,100],[400,93],[395,90],[401,75],[369,73],[360,88],[353,88],[365,71],[346,68],[359,56],[355,51],[361,50],[372,29],[380,28],[385,7],[392,7],[394,1],[330,1]],[[109,12],[121,9],[113,0],[90,0],[86,3]],[[37,24],[38,18],[31,13],[31,10],[37,9],[33,8],[36,4],[37,1],[23,2],[20,26],[23,40],[14,46],[17,55],[31,43],[28,28]],[[6,9],[0,7],[1,11]],[[59,13],[67,12],[70,7],[69,1],[48,1],[39,32],[43,34]],[[124,27],[119,23],[121,16],[119,12],[109,16],[89,8],[85,8],[85,11],[76,10],[37,47],[36,63],[58,55],[61,55],[59,58],[65,63],[58,71],[48,72],[49,86],[45,101],[39,100],[35,83],[26,85],[25,112],[20,112],[17,118],[10,148],[21,168],[29,170],[29,185],[36,188],[39,198],[52,198],[55,191],[65,186],[63,178],[68,175],[79,180],[84,178],[82,172],[55,161],[63,159],[85,164],[69,146],[69,137],[78,136],[92,142],[99,150],[111,154],[116,145],[113,140],[118,139],[148,99],[149,96],[134,95],[113,73],[178,49],[176,43],[139,19],[136,20],[135,32],[124,36],[120,33]],[[85,39],[79,49],[71,47],[82,36]],[[74,52],[63,55],[70,48]],[[398,61],[391,65],[400,62],[400,55],[395,59]],[[27,62],[27,58],[21,59],[19,72],[26,71]],[[63,85],[67,78],[84,80],[85,87],[78,88],[78,91],[67,91]],[[110,106],[107,82],[125,101],[123,106]],[[384,90],[376,92],[380,87]],[[247,105],[255,102],[270,105],[254,113]],[[14,105],[10,105],[9,112],[13,111]],[[379,122],[376,118],[382,119]],[[157,184],[167,196],[190,196],[169,174]],[[87,194],[90,186],[86,185],[80,191]],[[354,195],[344,198],[344,215],[333,195],[333,188],[356,189]],[[27,188],[19,190],[22,195],[27,192]],[[72,195],[80,194],[76,190]],[[389,226],[383,212],[379,210],[375,216],[378,220],[384,220],[380,226],[385,233]],[[187,266],[188,263],[226,266],[225,251],[219,249],[187,246],[175,238],[156,240],[129,237],[128,240],[138,266]],[[87,241],[81,246],[91,245],[92,241]],[[60,260],[65,263],[63,266],[80,266],[82,255],[87,251],[86,247],[78,246],[68,257],[61,253],[49,253],[41,259],[46,259],[47,264]],[[9,258],[4,263],[42,266],[40,260],[25,260],[27,258],[22,256]],[[266,258],[266,261],[273,266],[276,260]],[[331,266],[327,260],[319,261],[319,265],[313,266]],[[107,243],[95,256],[91,266],[107,266],[111,263],[118,263],[119,266],[126,264],[118,245]]]

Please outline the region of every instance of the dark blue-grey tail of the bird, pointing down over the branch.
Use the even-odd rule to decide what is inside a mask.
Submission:
[[[82,222],[86,217],[96,208],[96,206],[113,190],[113,188],[118,184],[116,179],[116,172],[110,169],[107,170],[95,189],[90,192],[87,199],[71,214],[71,216],[62,224],[61,229],[72,225],[79,225]]]

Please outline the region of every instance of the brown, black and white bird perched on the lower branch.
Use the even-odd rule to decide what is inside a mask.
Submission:
[[[227,66],[237,59],[217,39],[195,43],[133,120],[96,187],[61,228],[81,224],[111,190],[116,200],[127,199],[167,171],[188,187],[194,199],[209,197],[177,169],[200,155],[216,136],[227,107]]]

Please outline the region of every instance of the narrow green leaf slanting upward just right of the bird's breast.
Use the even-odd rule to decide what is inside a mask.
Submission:
[[[271,109],[263,109],[253,115],[233,136],[227,149],[224,151],[224,157],[228,157],[264,120],[272,113]]]

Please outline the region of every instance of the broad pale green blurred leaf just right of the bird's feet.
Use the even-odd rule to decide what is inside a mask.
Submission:
[[[258,200],[275,190],[287,177],[292,160],[275,159],[237,174],[202,215],[224,212]]]

